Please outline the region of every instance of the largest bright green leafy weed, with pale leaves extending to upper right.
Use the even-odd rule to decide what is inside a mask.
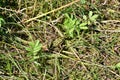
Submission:
[[[98,17],[98,15],[93,14],[92,11],[89,11],[88,17],[83,15],[82,20],[78,20],[73,15],[69,16],[68,14],[65,14],[65,16],[66,19],[63,23],[63,29],[65,30],[65,35],[72,38],[75,36],[75,32],[79,35],[80,30],[89,29],[88,26],[92,25]]]

